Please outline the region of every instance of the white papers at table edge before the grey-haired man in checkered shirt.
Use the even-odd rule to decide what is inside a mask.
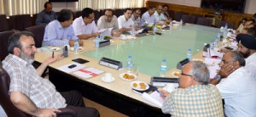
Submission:
[[[160,97],[159,92],[156,92],[156,91],[150,94],[143,92],[143,98],[150,103],[154,103],[160,108],[163,106],[163,103],[165,102],[165,100],[162,97]]]

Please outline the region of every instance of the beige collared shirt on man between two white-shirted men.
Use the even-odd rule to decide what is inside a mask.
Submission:
[[[114,30],[119,29],[119,23],[115,15],[113,15],[112,20],[110,22],[105,20],[105,15],[103,15],[98,21],[97,21],[97,27],[98,30],[102,29],[108,29],[113,28]]]

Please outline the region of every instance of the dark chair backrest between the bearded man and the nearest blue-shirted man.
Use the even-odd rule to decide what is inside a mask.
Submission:
[[[44,40],[44,29],[46,25],[35,25],[32,27],[26,28],[26,31],[31,31],[34,35],[34,40],[36,43],[36,47],[42,47],[42,43]]]

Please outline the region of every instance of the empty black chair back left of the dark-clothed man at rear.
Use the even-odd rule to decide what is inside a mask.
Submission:
[[[30,14],[19,14],[9,16],[12,29],[24,31],[27,27],[32,26],[32,18]]]

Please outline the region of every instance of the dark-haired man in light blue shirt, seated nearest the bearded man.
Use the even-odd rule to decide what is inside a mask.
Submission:
[[[78,39],[74,35],[73,12],[69,9],[62,9],[57,20],[51,21],[45,27],[43,46],[61,47],[69,44],[73,46],[74,40]],[[83,41],[79,41],[80,46],[83,46]]]

